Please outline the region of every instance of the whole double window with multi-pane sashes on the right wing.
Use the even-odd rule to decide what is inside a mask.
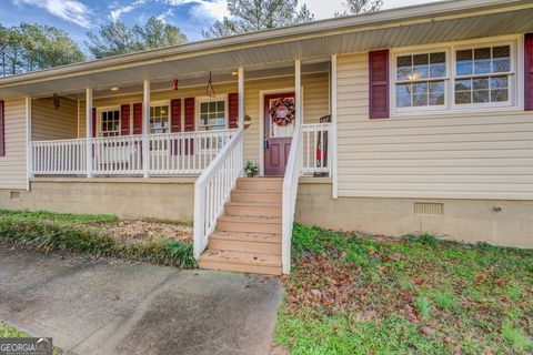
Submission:
[[[517,105],[520,40],[393,51],[391,108],[395,113]]]

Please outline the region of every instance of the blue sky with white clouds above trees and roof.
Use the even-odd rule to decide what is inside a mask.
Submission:
[[[438,0],[384,0],[384,9]],[[333,17],[343,0],[300,0],[315,19]],[[87,32],[99,24],[120,19],[132,26],[150,17],[179,27],[189,41],[202,39],[202,29],[228,16],[227,0],[0,0],[0,23],[50,24],[66,30],[82,48]]]

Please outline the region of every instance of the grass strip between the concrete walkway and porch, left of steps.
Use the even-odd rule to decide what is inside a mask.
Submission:
[[[0,211],[0,241],[44,252],[76,252],[178,267],[195,266],[190,242],[164,237],[117,240],[100,227],[117,221],[113,215]]]

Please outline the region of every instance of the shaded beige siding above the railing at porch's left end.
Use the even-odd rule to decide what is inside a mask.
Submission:
[[[52,98],[32,100],[31,138],[33,141],[78,138],[78,102],[61,97],[56,109]]]

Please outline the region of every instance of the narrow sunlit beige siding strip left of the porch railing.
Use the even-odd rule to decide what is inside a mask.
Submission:
[[[4,100],[6,155],[0,156],[0,189],[26,189],[26,100]]]

